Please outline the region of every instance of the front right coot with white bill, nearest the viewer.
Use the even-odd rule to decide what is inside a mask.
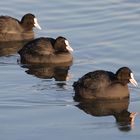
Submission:
[[[123,99],[129,97],[128,83],[137,86],[132,71],[122,67],[114,74],[96,70],[74,82],[75,98],[83,99]]]

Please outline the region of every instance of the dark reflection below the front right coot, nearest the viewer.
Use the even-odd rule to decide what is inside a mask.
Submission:
[[[118,129],[121,131],[129,131],[134,127],[137,113],[128,111],[129,99],[119,101],[84,100],[76,106],[92,116],[114,116]]]

